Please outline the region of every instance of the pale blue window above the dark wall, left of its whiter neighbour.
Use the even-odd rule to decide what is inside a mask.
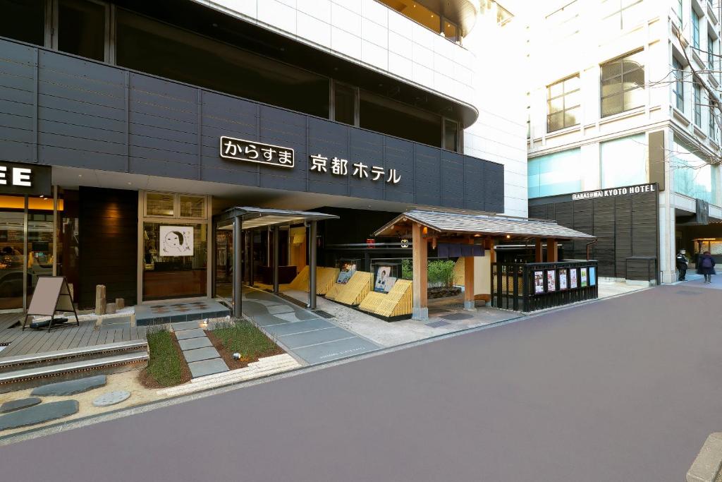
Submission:
[[[581,150],[570,149],[532,158],[527,165],[529,197],[556,196],[582,190]]]

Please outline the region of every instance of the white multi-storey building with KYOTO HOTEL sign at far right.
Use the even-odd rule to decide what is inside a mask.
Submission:
[[[720,20],[717,0],[560,0],[526,19],[529,215],[598,236],[601,275],[648,263],[670,283],[677,250],[722,254]],[[604,191],[640,184],[656,209]]]

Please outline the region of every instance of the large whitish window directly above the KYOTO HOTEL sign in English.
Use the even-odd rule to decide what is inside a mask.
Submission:
[[[602,189],[647,182],[645,134],[601,142],[599,165]]]

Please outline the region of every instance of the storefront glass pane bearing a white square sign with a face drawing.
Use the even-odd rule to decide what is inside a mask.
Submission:
[[[144,301],[206,296],[207,262],[207,224],[143,223]]]

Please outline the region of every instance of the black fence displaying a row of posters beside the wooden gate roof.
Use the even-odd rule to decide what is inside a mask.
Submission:
[[[536,311],[599,296],[596,261],[492,263],[492,306]]]

